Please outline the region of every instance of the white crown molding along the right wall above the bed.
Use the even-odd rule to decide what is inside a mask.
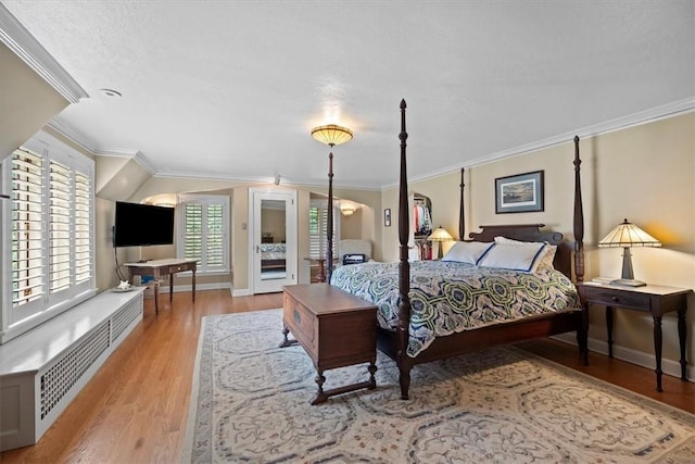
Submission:
[[[526,143],[526,145],[510,148],[507,150],[498,151],[496,153],[478,156],[476,159],[467,161],[465,164],[451,165],[438,171],[429,172],[427,174],[421,174],[419,176],[408,177],[408,184],[427,180],[433,177],[442,176],[444,174],[450,174],[456,171],[460,171],[462,167],[469,168],[469,167],[481,166],[483,164],[493,163],[495,161],[504,160],[506,158],[517,156],[519,154],[543,150],[560,143],[567,143],[571,141],[574,138],[574,136],[579,136],[580,139],[595,137],[603,134],[612,133],[616,130],[627,129],[629,127],[640,126],[642,124],[653,123],[659,120],[666,120],[668,117],[673,117],[679,114],[690,113],[692,111],[695,111],[695,97],[678,100],[660,106],[652,108],[649,110],[629,114],[627,116],[606,121],[604,123],[594,124],[592,126],[586,126],[584,128],[572,130],[570,133],[560,134],[543,140],[538,140],[531,143]],[[397,184],[384,185],[381,187],[381,190],[396,188],[397,186],[399,186]]]

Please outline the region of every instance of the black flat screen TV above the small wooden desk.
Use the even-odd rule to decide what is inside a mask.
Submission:
[[[174,243],[174,208],[116,201],[114,247]]]

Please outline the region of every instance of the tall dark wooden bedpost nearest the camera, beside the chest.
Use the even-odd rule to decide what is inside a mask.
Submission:
[[[397,327],[397,364],[401,372],[401,398],[408,399],[410,388],[410,366],[406,363],[408,347],[408,326],[410,321],[410,263],[408,262],[408,236],[410,231],[410,215],[408,212],[408,176],[406,167],[406,140],[408,133],[405,130],[405,100],[401,100],[401,181],[399,185],[399,240],[401,242],[401,262],[399,265],[399,327]]]

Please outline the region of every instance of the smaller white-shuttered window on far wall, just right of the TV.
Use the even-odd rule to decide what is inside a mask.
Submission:
[[[177,254],[198,262],[199,273],[229,272],[229,197],[179,197]]]

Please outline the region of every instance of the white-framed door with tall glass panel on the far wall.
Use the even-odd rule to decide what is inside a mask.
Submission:
[[[250,190],[249,262],[253,293],[282,291],[298,281],[296,191]]]

